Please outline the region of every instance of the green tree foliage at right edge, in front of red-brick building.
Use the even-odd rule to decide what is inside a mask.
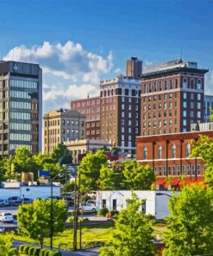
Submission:
[[[191,157],[201,157],[204,159],[207,170],[204,172],[205,182],[213,186],[213,139],[207,136],[200,136],[199,140],[193,143]]]

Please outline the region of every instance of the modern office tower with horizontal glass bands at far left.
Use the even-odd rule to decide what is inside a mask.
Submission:
[[[20,145],[41,151],[42,71],[38,64],[0,61],[0,155]]]

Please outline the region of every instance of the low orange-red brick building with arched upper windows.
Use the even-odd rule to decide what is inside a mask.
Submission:
[[[213,131],[191,131],[175,134],[153,135],[137,138],[137,162],[153,167],[157,180],[165,180],[166,176],[185,180],[204,180],[204,161],[189,158],[192,140],[199,135],[213,138]]]

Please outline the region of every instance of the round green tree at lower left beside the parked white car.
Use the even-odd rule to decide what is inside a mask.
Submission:
[[[41,248],[43,240],[50,238],[50,205],[51,200],[35,200],[18,208],[17,221],[23,234],[39,240]],[[53,200],[53,235],[64,230],[67,209],[64,200]]]

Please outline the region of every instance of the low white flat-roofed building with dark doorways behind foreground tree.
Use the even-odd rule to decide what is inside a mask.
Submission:
[[[130,190],[120,191],[97,191],[97,210],[106,207],[109,210],[127,208],[126,200],[132,198]],[[164,219],[169,215],[168,201],[172,197],[171,191],[135,190],[134,193],[140,200],[146,200],[141,205],[141,211],[145,214],[152,214],[157,220]]]

